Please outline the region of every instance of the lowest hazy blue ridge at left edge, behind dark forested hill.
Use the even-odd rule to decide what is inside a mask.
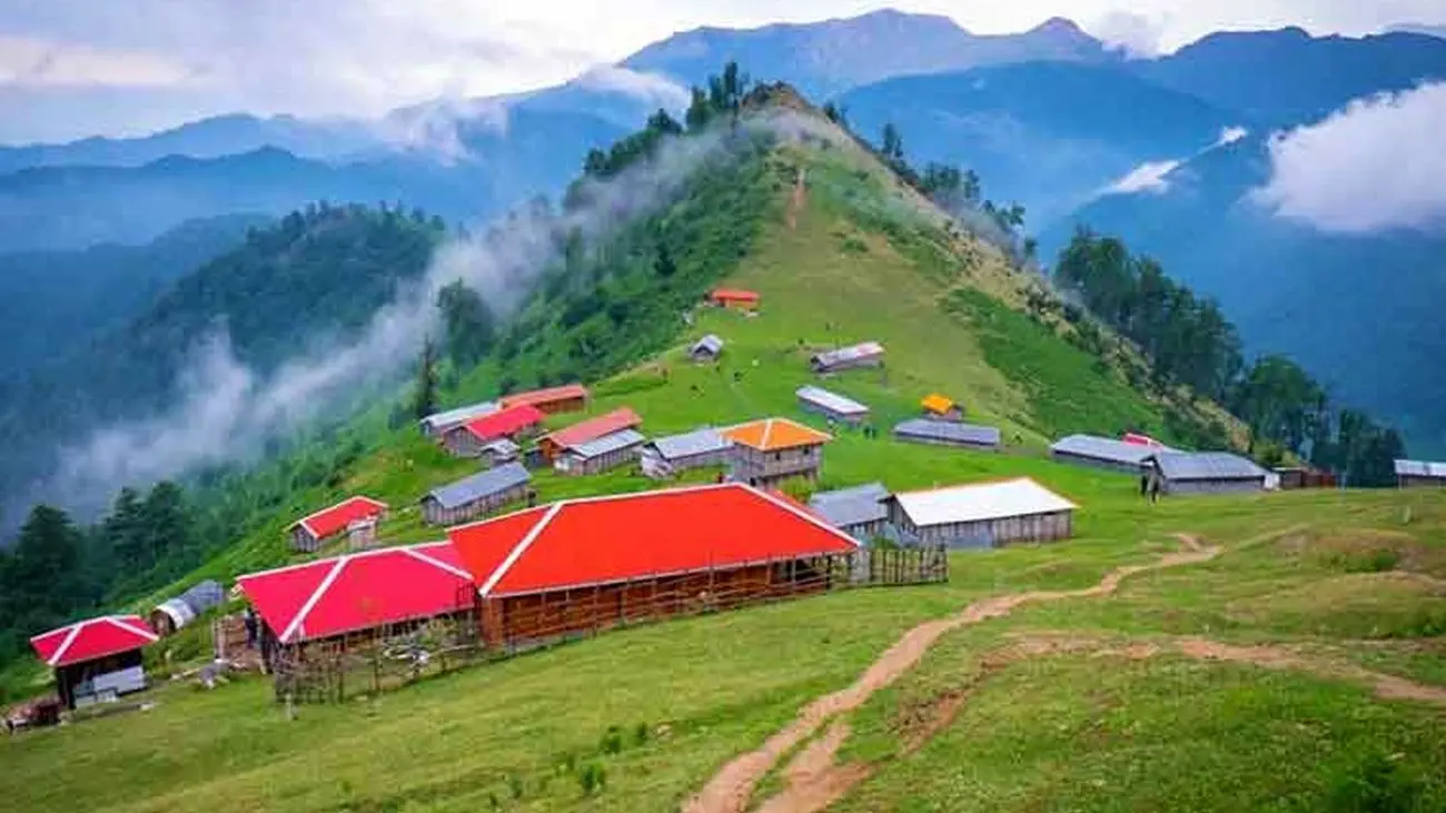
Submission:
[[[143,246],[0,255],[0,378],[124,324],[171,282],[269,220],[231,214],[188,220]]]

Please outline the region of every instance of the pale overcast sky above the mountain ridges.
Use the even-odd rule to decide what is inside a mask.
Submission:
[[[947,14],[976,33],[1069,16],[1137,51],[1173,51],[1219,29],[1446,25],[1446,0],[3,0],[0,143],[145,133],[237,110],[375,116],[438,95],[545,87],[703,25],[889,6]]]

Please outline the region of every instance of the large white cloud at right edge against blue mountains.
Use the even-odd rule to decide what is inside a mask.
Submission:
[[[1446,227],[1446,82],[1351,103],[1277,135],[1252,198],[1323,231]]]

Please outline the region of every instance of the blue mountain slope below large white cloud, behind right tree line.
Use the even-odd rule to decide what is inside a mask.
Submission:
[[[1268,178],[1264,137],[1210,150],[1163,191],[1105,195],[1057,223],[1044,256],[1076,224],[1118,234],[1215,297],[1248,350],[1294,357],[1339,402],[1395,422],[1413,453],[1446,453],[1446,234],[1322,233],[1252,201]]]

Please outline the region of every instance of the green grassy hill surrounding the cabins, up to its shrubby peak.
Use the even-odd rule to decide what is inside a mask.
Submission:
[[[1128,352],[1100,360],[1071,341],[1069,325],[1031,317],[1031,278],[949,229],[846,135],[821,120],[811,129],[826,140],[777,145],[732,175],[737,185],[716,182],[690,198],[691,210],[652,218],[661,231],[651,239],[717,237],[709,243],[717,250],[680,252],[681,282],[667,297],[726,282],[759,291],[761,312],[700,308],[684,318],[664,301],[646,331],[619,340],[626,352],[597,356],[599,369],[616,372],[590,382],[593,411],[630,405],[649,434],[804,420],[794,389],[814,380],[810,352],[879,340],[884,370],[826,386],[869,404],[881,430],[914,415],[923,395],[949,393],[970,420],[1001,425],[1011,448],[840,431],[823,485],[878,479],[908,489],[1028,474],[1082,506],[1074,540],[957,554],[947,584],[619,631],[363,702],[307,706],[294,720],[263,678],[215,691],[163,686],[150,710],[6,741],[0,797],[26,810],[677,810],[917,625],[1025,590],[1090,587],[1112,569],[1158,564],[1186,534],[1219,554],[1135,573],[1113,595],[1035,597],[940,631],[894,683],[857,693],[804,742],[761,761],[748,804],[1440,810],[1446,501],[1294,492],[1151,506],[1128,476],[1048,461],[1045,443],[1069,431],[1141,428],[1189,443],[1200,427],[1235,427],[1187,393],[1163,404],[1135,391]],[[554,330],[518,341],[506,363],[479,366],[450,401],[495,395],[503,378],[534,383],[567,372],[580,339],[545,321],[555,315],[525,315]],[[717,366],[684,360],[704,333],[727,341]],[[388,538],[440,537],[408,506],[473,464],[385,424],[379,406],[344,430],[337,443],[364,438],[366,451],[331,486],[268,509],[202,573],[286,561],[282,528],[353,492],[402,508],[383,525]],[[544,473],[536,486],[551,501],[652,483],[626,472]],[[1379,697],[1377,673],[1417,699]],[[818,770],[804,770],[804,757],[820,755]],[[61,771],[67,781],[54,781]],[[603,781],[589,793],[584,775]]]

